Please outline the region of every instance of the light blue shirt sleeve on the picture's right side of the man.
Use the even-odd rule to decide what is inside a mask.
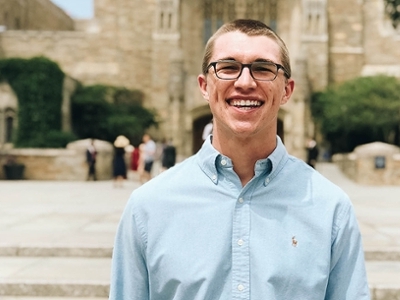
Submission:
[[[334,225],[325,300],[370,300],[361,234],[352,205],[344,206]]]

